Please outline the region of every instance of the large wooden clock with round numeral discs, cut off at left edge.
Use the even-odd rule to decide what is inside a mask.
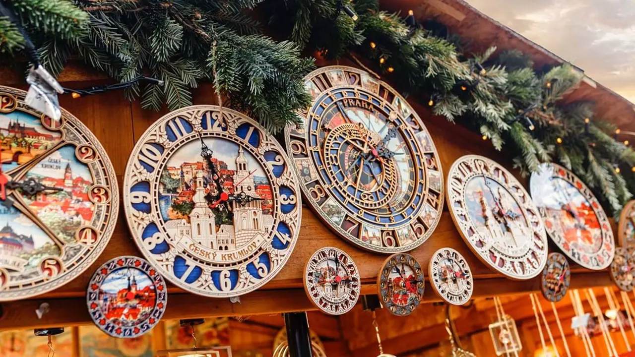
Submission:
[[[0,86],[0,301],[58,288],[104,251],[119,208],[104,148],[79,119],[54,121]]]

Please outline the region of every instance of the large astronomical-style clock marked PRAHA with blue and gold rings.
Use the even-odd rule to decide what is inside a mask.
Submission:
[[[324,67],[305,87],[304,128],[286,130],[302,191],[343,238],[380,253],[424,243],[441,217],[443,175],[431,137],[396,91],[352,67]]]

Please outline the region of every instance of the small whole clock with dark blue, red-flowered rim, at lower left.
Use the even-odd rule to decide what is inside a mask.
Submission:
[[[152,330],[168,304],[163,276],[139,257],[117,257],[101,266],[86,294],[88,312],[112,337],[132,339]]]

